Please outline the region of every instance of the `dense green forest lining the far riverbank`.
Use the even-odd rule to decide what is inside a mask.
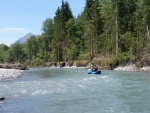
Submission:
[[[150,62],[150,0],[86,0],[78,17],[62,0],[42,32],[24,44],[1,44],[0,62],[42,65],[102,56],[112,63]]]

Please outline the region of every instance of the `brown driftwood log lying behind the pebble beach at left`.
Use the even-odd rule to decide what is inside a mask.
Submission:
[[[27,67],[24,64],[0,64],[0,68],[27,70]]]

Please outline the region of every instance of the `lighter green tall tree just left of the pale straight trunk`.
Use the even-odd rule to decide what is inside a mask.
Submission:
[[[100,2],[100,13],[103,21],[103,34],[101,37],[101,51],[104,54],[114,53],[115,49],[115,16],[112,1],[102,0]]]

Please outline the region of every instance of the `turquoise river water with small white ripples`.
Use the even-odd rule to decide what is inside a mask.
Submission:
[[[35,68],[1,81],[0,113],[150,113],[150,73]]]

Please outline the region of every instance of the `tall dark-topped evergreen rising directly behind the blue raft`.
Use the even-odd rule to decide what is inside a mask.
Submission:
[[[86,0],[84,9],[86,18],[84,36],[87,38],[86,42],[91,58],[99,53],[99,35],[103,29],[99,4],[99,0]]]

